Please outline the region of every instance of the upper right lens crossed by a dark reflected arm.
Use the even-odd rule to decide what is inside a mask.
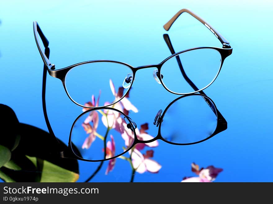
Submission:
[[[210,84],[221,67],[221,54],[215,49],[201,48],[182,52],[168,59],[161,67],[163,84],[178,94],[192,93]]]

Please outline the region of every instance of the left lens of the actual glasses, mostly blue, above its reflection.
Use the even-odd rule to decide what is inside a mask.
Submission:
[[[86,63],[68,71],[65,87],[78,104],[103,107],[118,101],[127,93],[132,84],[132,77],[128,76],[132,76],[132,70],[120,63]]]

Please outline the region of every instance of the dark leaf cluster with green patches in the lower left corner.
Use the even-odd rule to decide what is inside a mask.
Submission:
[[[72,182],[78,179],[78,161],[62,158],[60,149],[70,155],[67,146],[48,132],[20,123],[14,111],[0,104],[1,150],[11,152],[11,158],[1,164],[0,177],[7,182]],[[56,147],[60,148],[57,149]],[[76,148],[74,148],[76,149]],[[7,153],[0,154],[1,161]]]

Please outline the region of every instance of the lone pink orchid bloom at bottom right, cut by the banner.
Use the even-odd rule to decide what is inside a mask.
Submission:
[[[215,168],[214,166],[208,166],[207,168],[201,168],[195,163],[191,164],[191,170],[199,177],[185,177],[181,182],[212,182],[216,179],[217,175],[223,170],[221,168]]]

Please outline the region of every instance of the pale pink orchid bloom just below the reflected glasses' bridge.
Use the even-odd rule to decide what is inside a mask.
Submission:
[[[142,155],[140,151],[134,149],[131,154],[134,169],[140,174],[143,174],[146,171],[158,173],[162,166],[158,162],[150,159],[153,155],[153,150],[146,151],[146,155]]]

